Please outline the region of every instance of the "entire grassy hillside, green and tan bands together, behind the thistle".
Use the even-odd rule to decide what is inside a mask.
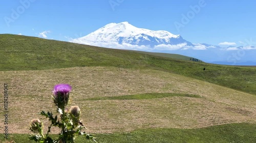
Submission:
[[[0,51],[15,142],[29,142],[33,118],[47,127],[35,113],[55,110],[51,94],[58,83],[72,85],[69,106],[81,108],[99,142],[256,142],[255,67],[8,34],[0,35]]]

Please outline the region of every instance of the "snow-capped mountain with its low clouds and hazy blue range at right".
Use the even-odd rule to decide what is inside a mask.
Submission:
[[[178,53],[193,56],[205,62],[256,61],[256,47],[220,47],[206,43],[195,44],[167,31],[138,28],[129,22],[109,23],[87,36],[70,42],[106,48]],[[250,50],[252,49],[252,50]],[[248,52],[250,50],[250,52]],[[230,64],[232,65],[232,64]]]

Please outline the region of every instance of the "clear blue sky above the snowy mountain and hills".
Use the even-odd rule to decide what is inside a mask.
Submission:
[[[68,41],[108,23],[128,21],[137,27],[180,34],[193,43],[238,46],[256,41],[255,6],[252,0],[3,0],[0,33]]]

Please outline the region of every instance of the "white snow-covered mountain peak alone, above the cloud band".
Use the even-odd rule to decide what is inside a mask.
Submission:
[[[121,23],[109,23],[87,36],[74,39],[75,43],[109,43],[132,45],[150,45],[154,47],[160,44],[178,44],[185,41],[180,35],[174,35],[167,31],[151,31],[138,28],[127,21]],[[190,43],[190,42],[189,42]]]

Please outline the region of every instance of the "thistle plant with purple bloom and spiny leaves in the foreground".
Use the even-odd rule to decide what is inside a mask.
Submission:
[[[69,103],[69,93],[72,87],[69,84],[57,84],[53,89],[53,101],[57,107],[57,113],[53,116],[52,112],[46,112],[42,110],[39,115],[42,115],[51,122],[48,127],[46,134],[43,133],[44,126],[39,119],[33,119],[30,123],[30,130],[36,134],[31,134],[29,136],[30,140],[38,141],[41,143],[72,143],[78,135],[85,135],[87,139],[95,140],[91,134],[87,134],[82,131],[85,127],[80,121],[81,110],[78,106],[71,106],[70,109],[66,108]],[[59,127],[61,129],[58,139],[53,139],[49,136],[51,132],[51,127]]]

